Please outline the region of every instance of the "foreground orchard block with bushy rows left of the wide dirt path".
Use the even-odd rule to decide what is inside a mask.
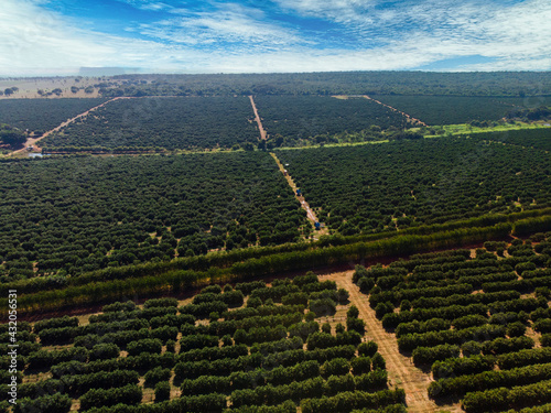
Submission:
[[[403,413],[403,390],[389,389],[385,359],[377,343],[364,339],[365,324],[347,297],[309,273],[271,285],[212,285],[185,305],[117,302],[83,323],[68,316],[22,323],[18,404],[57,412],[125,404],[118,409]],[[3,326],[1,334],[9,335]]]

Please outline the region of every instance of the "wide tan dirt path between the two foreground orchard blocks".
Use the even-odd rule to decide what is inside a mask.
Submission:
[[[382,324],[375,317],[375,311],[369,306],[367,295],[360,293],[358,286],[352,282],[354,271],[336,272],[321,275],[320,280],[331,280],[337,283],[338,289],[350,293],[350,303],[359,309],[359,317],[366,322],[366,335],[377,343],[379,352],[387,362],[388,377],[391,388],[401,388],[406,391],[406,403],[410,413],[431,413],[449,411],[462,412],[458,404],[437,406],[429,399],[426,389],[432,379],[413,366],[412,361],[398,351],[398,341],[393,334],[387,333]]]

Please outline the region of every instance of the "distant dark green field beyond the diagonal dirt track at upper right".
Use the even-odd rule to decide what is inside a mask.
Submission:
[[[428,124],[467,123],[472,120],[499,120],[523,107],[522,98],[468,96],[381,96],[372,95],[398,110]]]

